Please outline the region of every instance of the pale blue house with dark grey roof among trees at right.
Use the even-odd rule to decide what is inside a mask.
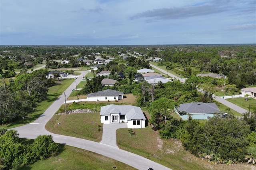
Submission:
[[[180,112],[184,111],[190,113],[192,119],[210,119],[214,116],[214,113],[220,112],[218,106],[215,103],[183,103],[180,107],[175,109],[176,113],[180,115]],[[188,120],[188,115],[180,115],[183,120]]]

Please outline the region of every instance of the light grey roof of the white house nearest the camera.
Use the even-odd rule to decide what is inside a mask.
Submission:
[[[127,120],[140,119],[146,120],[140,107],[132,105],[107,105],[102,106],[100,109],[100,116],[110,115],[111,113],[119,113],[120,115],[126,115]]]

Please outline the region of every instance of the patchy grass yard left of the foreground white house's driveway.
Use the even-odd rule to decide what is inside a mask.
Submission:
[[[45,128],[56,134],[100,142],[102,140],[102,127],[98,131],[99,125],[103,127],[103,124],[100,123],[100,113],[93,112],[54,115],[45,125]]]

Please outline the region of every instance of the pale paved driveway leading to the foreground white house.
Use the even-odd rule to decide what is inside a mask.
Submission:
[[[103,134],[100,143],[118,148],[116,145],[116,130],[119,128],[127,128],[127,123],[103,124]]]

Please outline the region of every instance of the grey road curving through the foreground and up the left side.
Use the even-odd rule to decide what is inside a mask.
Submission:
[[[84,75],[86,75],[87,71],[81,71],[81,73],[84,73]],[[82,74],[76,79],[76,82],[79,83],[81,80]],[[70,87],[68,87],[68,89],[66,89],[65,91],[66,97],[70,95],[72,89],[75,89],[75,87],[75,82],[73,82]],[[142,156],[138,156],[125,150],[121,150],[117,147],[93,142],[90,140],[48,132],[45,129],[46,123],[52,118],[54,113],[60,108],[64,101],[65,100],[63,93],[36,121],[22,127],[16,127],[14,129],[18,131],[21,138],[35,139],[40,134],[50,134],[53,136],[54,141],[57,143],[67,144],[77,148],[89,150],[91,152],[95,152],[104,156],[108,156],[109,158],[113,158],[140,170],[147,170],[148,168],[153,168],[154,170],[169,169]]]

